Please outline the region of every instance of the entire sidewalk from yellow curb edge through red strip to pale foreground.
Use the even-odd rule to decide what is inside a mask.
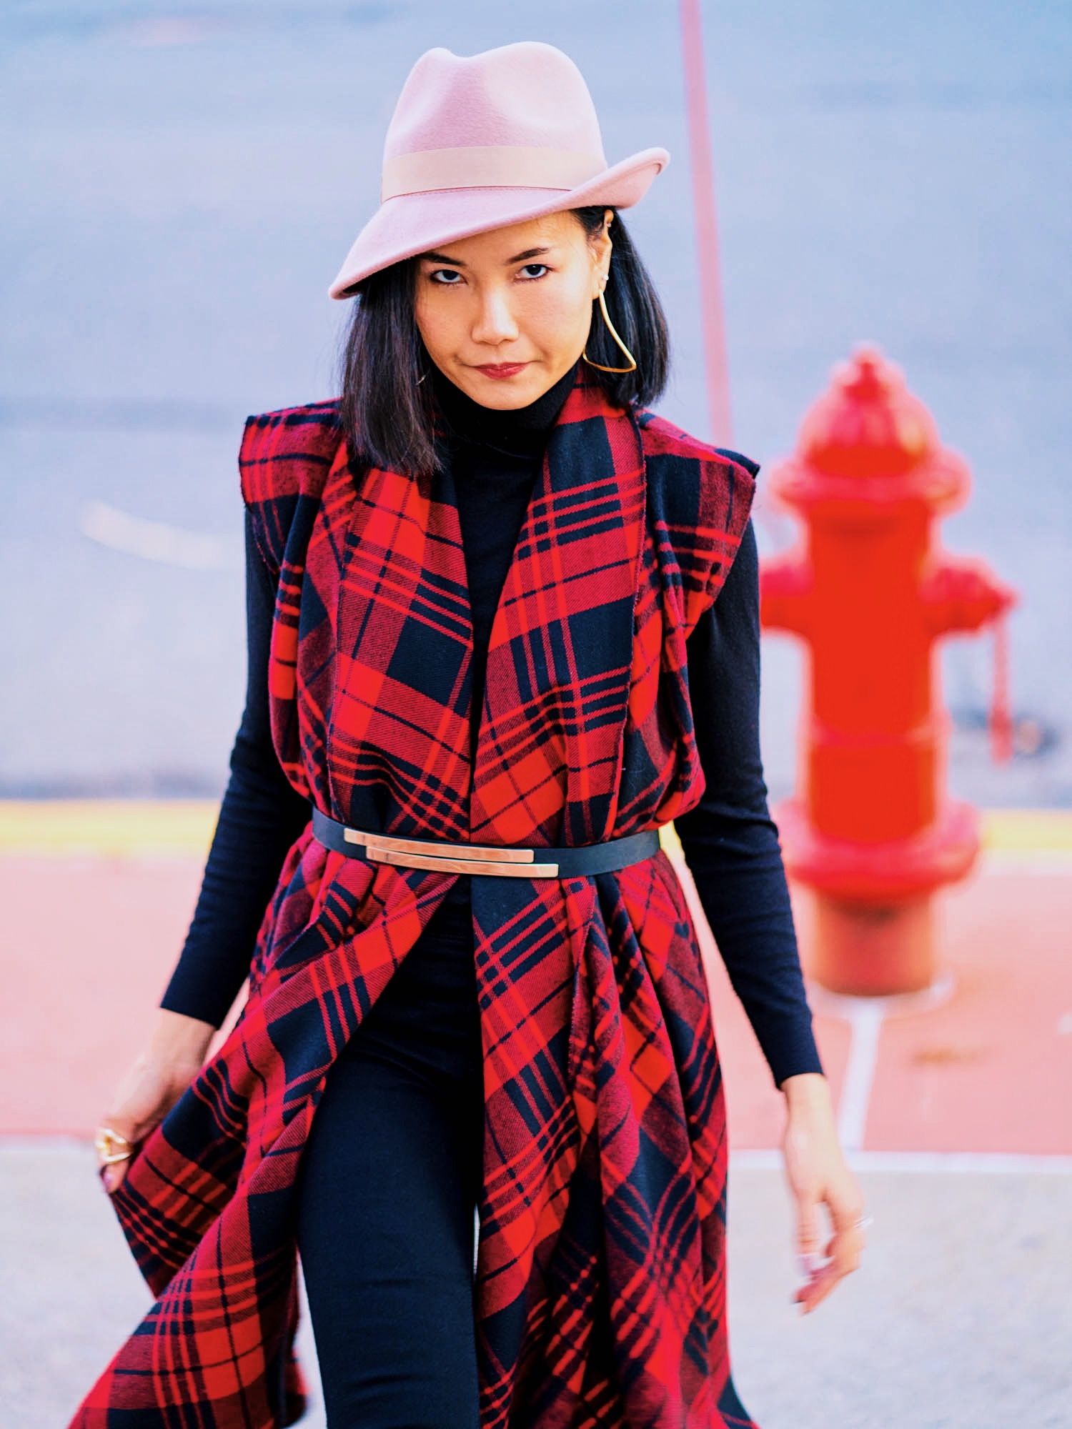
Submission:
[[[149,1305],[89,1133],[173,966],[214,810],[0,805],[4,1429],[66,1423]],[[943,1000],[809,987],[875,1223],[860,1270],[806,1318],[782,1096],[705,937],[730,1113],[732,1358],[763,1429],[1072,1426],[1072,817],[993,815],[986,830],[981,869],[943,900]],[[40,917],[56,906],[64,919]],[[307,1316],[302,1336],[313,1379]],[[316,1408],[303,1425],[323,1422]]]

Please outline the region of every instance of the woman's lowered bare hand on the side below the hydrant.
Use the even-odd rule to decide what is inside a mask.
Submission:
[[[786,1126],[782,1155],[789,1189],[796,1203],[796,1249],[808,1283],[793,1299],[800,1312],[813,1310],[835,1285],[860,1263],[865,1235],[863,1193],[849,1170],[838,1140],[830,1086],[819,1072],[786,1077],[779,1090],[786,1096]],[[825,1205],[833,1235],[819,1258],[819,1206]]]

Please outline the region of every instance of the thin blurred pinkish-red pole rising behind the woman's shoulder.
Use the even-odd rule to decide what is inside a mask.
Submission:
[[[730,446],[733,427],[729,412],[729,362],[726,359],[726,322],[722,310],[722,279],[719,274],[719,230],[715,221],[715,169],[710,154],[708,91],[703,73],[700,0],[682,0],[680,9],[700,322],[708,372],[708,412],[712,440]]]

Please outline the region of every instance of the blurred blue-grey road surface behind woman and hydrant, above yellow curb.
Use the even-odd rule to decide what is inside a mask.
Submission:
[[[703,19],[733,444],[789,452],[860,339],[903,367],[972,467],[948,544],[1022,594],[1012,767],[981,727],[991,637],[943,642],[953,792],[1068,806],[1072,9],[730,0]],[[709,436],[676,4],[9,0],[0,36],[1,793],[222,792],[244,689],[242,423],[337,390],[347,304],[326,289],[425,49],[559,44],[612,161],[670,150],[627,221],[675,340],[660,409]],[[756,526],[760,552],[792,534],[762,499]],[[799,662],[766,640],[775,796]]]

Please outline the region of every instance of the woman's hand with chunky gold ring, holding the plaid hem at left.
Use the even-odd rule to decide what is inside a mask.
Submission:
[[[120,1079],[111,1106],[100,1122],[130,1142],[121,1149],[133,1152],[136,1143],[163,1122],[204,1065],[214,1033],[210,1022],[160,1009],[146,1047]],[[111,1195],[123,1183],[129,1157],[104,1163],[97,1153],[97,1159],[104,1190]]]

